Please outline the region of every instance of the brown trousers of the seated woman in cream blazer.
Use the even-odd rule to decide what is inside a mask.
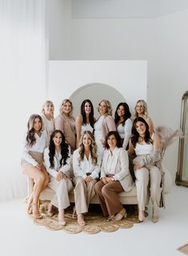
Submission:
[[[98,195],[104,216],[114,215],[123,209],[118,193],[123,192],[124,189],[119,181],[110,181],[107,184],[98,181],[94,186],[94,190]]]

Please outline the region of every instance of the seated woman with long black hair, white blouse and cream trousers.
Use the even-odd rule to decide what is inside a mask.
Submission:
[[[65,136],[60,130],[55,130],[50,136],[49,148],[44,153],[44,164],[50,173],[49,187],[56,193],[50,201],[48,215],[51,213],[52,205],[58,208],[58,222],[66,225],[64,209],[70,206],[69,192],[73,189],[70,181],[70,148],[65,142]]]

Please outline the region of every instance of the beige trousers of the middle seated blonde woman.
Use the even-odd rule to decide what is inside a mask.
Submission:
[[[76,207],[76,213],[87,213],[90,205],[90,199],[94,197],[94,185],[97,180],[90,181],[89,185],[82,177],[74,177],[74,201]]]

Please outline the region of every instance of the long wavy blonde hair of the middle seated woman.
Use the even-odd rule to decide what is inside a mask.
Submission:
[[[85,152],[85,149],[84,149],[84,144],[83,144],[83,137],[85,135],[88,135],[90,136],[90,140],[91,140],[91,144],[90,144],[90,156],[91,156],[91,159],[92,159],[92,164],[93,165],[97,165],[98,163],[98,155],[97,155],[97,146],[95,144],[95,141],[94,141],[94,135],[90,132],[90,131],[84,131],[82,133],[82,137],[81,137],[81,144],[80,144],[80,149],[79,149],[79,154],[80,154],[80,157],[78,158],[78,162],[79,164],[81,163],[81,161],[83,161],[84,159],[84,152]]]

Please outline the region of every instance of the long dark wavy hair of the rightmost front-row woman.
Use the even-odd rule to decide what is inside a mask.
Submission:
[[[138,143],[138,138],[139,138],[139,133],[137,132],[137,129],[136,129],[136,124],[138,122],[142,122],[146,126],[146,132],[144,136],[144,141],[146,142],[146,144],[153,144],[153,140],[150,137],[149,125],[147,124],[146,120],[138,116],[137,118],[134,119],[133,126],[132,126],[132,135],[130,137],[130,140],[134,145],[134,148],[136,147],[136,144]]]

